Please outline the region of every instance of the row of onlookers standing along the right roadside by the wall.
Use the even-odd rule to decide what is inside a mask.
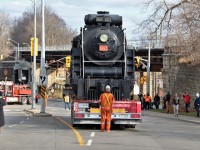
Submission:
[[[150,108],[155,109],[165,109],[166,113],[169,113],[170,110],[173,111],[174,116],[178,117],[178,113],[180,111],[180,105],[184,103],[184,111],[189,113],[192,108],[196,111],[196,116],[199,117],[200,113],[200,96],[199,93],[195,95],[194,104],[192,105],[191,96],[188,92],[185,92],[181,97],[177,93],[171,95],[169,92],[163,97],[162,101],[158,93],[152,98],[149,93],[142,94],[139,93],[138,97],[142,103],[143,110],[149,110]],[[162,102],[162,103],[161,103]],[[162,107],[160,107],[162,106]],[[173,109],[171,109],[173,106]],[[182,105],[181,105],[182,106]]]

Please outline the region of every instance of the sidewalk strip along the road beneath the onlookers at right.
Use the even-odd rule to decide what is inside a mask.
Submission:
[[[197,117],[183,116],[183,115],[174,117],[174,114],[171,114],[171,113],[169,113],[169,114],[168,113],[160,113],[160,112],[154,112],[151,110],[150,111],[143,110],[142,116],[155,116],[155,117],[169,118],[169,119],[175,119],[175,120],[180,120],[180,121],[184,121],[184,122],[200,124],[200,118],[197,118]]]

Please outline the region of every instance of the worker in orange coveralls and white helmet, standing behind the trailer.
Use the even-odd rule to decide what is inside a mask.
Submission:
[[[101,131],[105,130],[106,123],[106,131],[110,132],[111,126],[111,114],[112,114],[112,104],[114,103],[114,96],[110,93],[110,86],[107,85],[105,88],[105,92],[100,96],[100,106],[101,106]]]

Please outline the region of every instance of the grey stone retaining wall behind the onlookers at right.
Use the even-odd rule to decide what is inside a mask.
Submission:
[[[194,107],[193,101],[196,92],[200,93],[200,65],[191,66],[178,62],[180,55],[167,54],[163,57],[163,88],[164,93],[168,91],[173,95],[178,93],[183,102],[182,95],[189,92],[191,95],[191,108]]]

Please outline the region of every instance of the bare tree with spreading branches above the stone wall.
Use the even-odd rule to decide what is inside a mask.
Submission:
[[[139,25],[146,38],[160,39],[165,47],[183,53],[184,63],[200,64],[200,1],[149,0],[146,8],[153,12]],[[144,30],[145,29],[145,30]],[[152,36],[154,35],[154,36]]]

